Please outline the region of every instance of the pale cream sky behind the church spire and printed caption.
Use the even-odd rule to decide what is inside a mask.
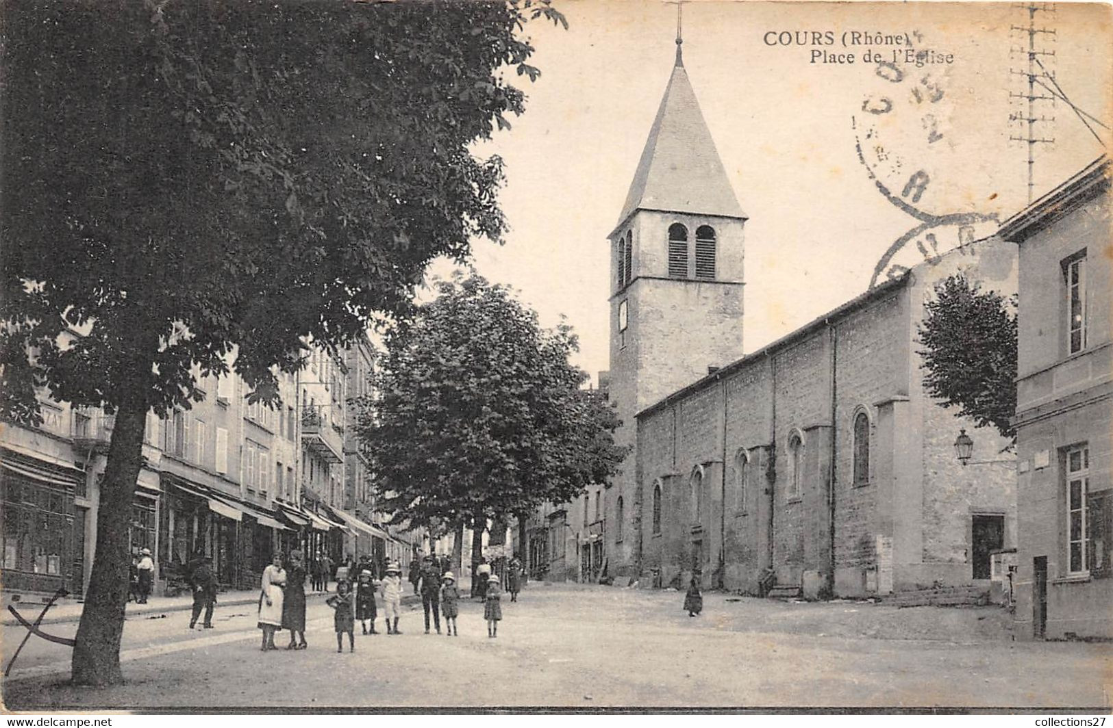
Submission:
[[[554,325],[565,315],[580,336],[577,363],[594,375],[608,363],[610,257],[614,227],[638,158],[668,81],[674,54],[676,6],[650,1],[558,0],[570,29],[528,26],[542,71],[524,77],[525,114],[481,153],[501,154],[506,186],[501,203],[511,226],[508,245],[475,246],[479,270],[511,283]],[[1043,57],[1058,84],[1082,109],[1113,127],[1109,6],[1062,3],[1037,13],[1054,28],[1056,56]],[[918,207],[933,213],[998,213],[1026,202],[1026,144],[1008,141],[1008,92],[1024,77],[1009,73],[1026,59],[1009,48],[1026,34],[1012,3],[885,4],[688,2],[683,54],[703,117],[730,176],[746,231],[746,351],[754,351],[866,290],[881,253],[917,221],[888,202],[855,150],[864,122],[874,122],[904,163],[893,179],[924,167],[929,190]],[[809,63],[812,47],[770,47],[767,31],[827,31],[855,52],[854,64]],[[949,66],[907,71],[899,83],[864,63],[861,47],[843,48],[843,31],[919,32],[918,48],[954,53]],[[880,48],[884,53],[892,49]],[[910,90],[923,76],[943,90],[929,111],[940,140],[928,146],[926,102]],[[922,90],[928,86],[919,87]],[[866,114],[867,97],[892,97],[894,110]],[[1102,153],[1102,146],[1063,103],[1041,133],[1036,196]],[[1107,130],[1095,127],[1106,144]],[[890,160],[892,161],[892,160]],[[900,190],[895,190],[899,192]],[[948,245],[944,235],[940,240]],[[446,266],[433,267],[443,275]]]

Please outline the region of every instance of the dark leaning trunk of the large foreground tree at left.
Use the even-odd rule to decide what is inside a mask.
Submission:
[[[97,511],[97,550],[77,627],[71,664],[76,685],[115,685],[120,671],[120,637],[128,601],[128,519],[136,480],[142,468],[142,436],[147,406],[129,401],[116,412],[108,446],[108,463]]]

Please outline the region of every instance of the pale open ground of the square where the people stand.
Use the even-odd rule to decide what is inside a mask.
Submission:
[[[304,651],[260,652],[254,610],[129,619],[124,670],[108,689],[66,684],[65,648],[33,640],[3,685],[10,709],[392,706],[1066,707],[1109,709],[1113,645],[1016,642],[995,607],[897,609],[531,584],[504,598],[499,637],[462,604],[460,637],[425,636],[420,605],[403,635],[356,635],[336,654],[332,611],[311,602]],[[75,625],[56,625],[72,634]],[[380,624],[382,629],[382,625]],[[358,627],[357,627],[358,630]],[[3,628],[3,648],[21,637]],[[286,635],[279,632],[283,644]],[[7,659],[7,658],[6,658]],[[24,661],[26,660],[26,661]]]

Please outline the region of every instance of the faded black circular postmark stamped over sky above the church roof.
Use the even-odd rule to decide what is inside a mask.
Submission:
[[[996,230],[996,215],[972,209],[993,199],[991,170],[964,163],[968,141],[958,139],[956,123],[946,67],[886,60],[869,74],[851,118],[858,160],[912,223],[879,251],[870,288]]]

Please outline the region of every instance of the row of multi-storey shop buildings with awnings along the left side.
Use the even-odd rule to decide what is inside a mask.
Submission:
[[[197,551],[218,581],[250,588],[276,551],[302,549],[408,564],[420,532],[383,525],[353,400],[367,393],[373,348],[335,358],[314,349],[280,376],[282,405],[248,405],[235,375],[198,377],[205,399],[167,419],[148,415],[129,518],[134,547],[155,557],[157,589],[174,591]],[[96,545],[112,418],[40,400],[39,427],[0,430],[4,598],[66,588],[80,596]]]

